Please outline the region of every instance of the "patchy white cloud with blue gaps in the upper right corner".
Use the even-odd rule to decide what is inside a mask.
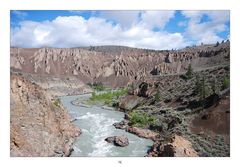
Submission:
[[[197,43],[215,43],[224,40],[218,33],[228,29],[229,11],[182,11],[182,14],[189,18],[186,35]],[[204,16],[208,21],[202,22]]]

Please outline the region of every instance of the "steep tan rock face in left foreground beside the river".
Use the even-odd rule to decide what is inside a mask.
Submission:
[[[11,156],[69,156],[80,130],[59,101],[21,76],[11,74]]]

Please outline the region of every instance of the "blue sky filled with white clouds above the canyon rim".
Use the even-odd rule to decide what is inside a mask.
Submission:
[[[12,10],[11,47],[180,49],[230,38],[230,12]]]

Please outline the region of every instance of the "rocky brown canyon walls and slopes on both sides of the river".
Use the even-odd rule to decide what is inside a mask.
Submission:
[[[12,156],[69,156],[80,129],[57,99],[94,92],[93,83],[128,89],[114,102],[126,114],[118,127],[151,139],[148,156],[230,156],[229,41],[161,51],[90,46],[10,52]],[[136,127],[133,112],[156,121]]]

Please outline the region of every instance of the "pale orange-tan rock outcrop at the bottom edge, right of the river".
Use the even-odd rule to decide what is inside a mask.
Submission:
[[[181,136],[175,135],[169,143],[162,144],[160,141],[155,142],[150,149],[148,156],[198,157],[198,154],[193,149],[191,142]]]

